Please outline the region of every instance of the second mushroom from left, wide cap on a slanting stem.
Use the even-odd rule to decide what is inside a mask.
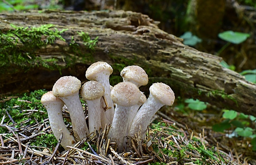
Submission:
[[[79,99],[81,81],[73,76],[59,78],[52,88],[52,94],[60,98],[69,110],[74,136],[81,140],[89,134],[83,106]]]

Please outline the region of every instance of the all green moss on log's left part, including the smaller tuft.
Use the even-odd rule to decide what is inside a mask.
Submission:
[[[17,27],[12,25],[12,30],[7,32],[0,31],[0,71],[4,72],[8,67],[18,66],[25,71],[31,67],[43,66],[51,70],[61,70],[74,64],[76,58],[81,57],[82,60],[92,61],[92,53],[94,46],[97,43],[98,37],[94,40],[90,39],[88,33],[78,32],[78,35],[82,38],[83,44],[89,53],[81,53],[79,50],[79,44],[75,42],[72,37],[69,44],[70,54],[76,56],[66,55],[63,61],[66,65],[58,65],[58,59],[50,58],[43,59],[37,55],[39,49],[46,47],[47,45],[55,44],[56,40],[65,41],[62,37],[62,33],[68,29],[59,31],[54,28],[52,24],[42,25],[40,27]],[[77,57],[78,56],[78,57]],[[8,70],[9,71],[9,70]],[[16,72],[14,69],[12,72]]]

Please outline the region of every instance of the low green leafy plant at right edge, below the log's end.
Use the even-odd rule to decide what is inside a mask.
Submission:
[[[251,145],[253,151],[256,151],[256,144],[254,142],[256,134],[255,129],[249,127],[253,123],[255,127],[256,118],[251,115],[245,115],[243,113],[235,112],[234,110],[223,110],[223,121],[221,123],[214,124],[212,129],[216,132],[224,132],[230,128],[234,129],[234,132],[228,137],[233,136],[249,137],[251,138]]]

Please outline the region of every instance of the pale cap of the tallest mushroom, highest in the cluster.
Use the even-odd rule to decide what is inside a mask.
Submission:
[[[90,67],[88,67],[88,69],[85,72],[85,77],[89,80],[97,81],[97,76],[100,73],[110,75],[112,74],[112,72],[113,72],[113,69],[108,63],[98,61],[90,65]]]

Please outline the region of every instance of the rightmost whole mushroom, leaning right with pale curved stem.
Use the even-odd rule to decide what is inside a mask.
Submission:
[[[145,132],[154,114],[164,105],[173,105],[174,93],[170,86],[164,83],[154,83],[149,88],[147,101],[140,107],[130,127],[130,136],[135,137],[141,126],[141,138],[145,139]]]

